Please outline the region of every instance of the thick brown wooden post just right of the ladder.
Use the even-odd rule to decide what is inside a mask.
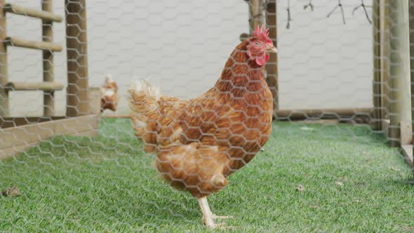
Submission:
[[[89,114],[86,0],[65,0],[67,116]]]

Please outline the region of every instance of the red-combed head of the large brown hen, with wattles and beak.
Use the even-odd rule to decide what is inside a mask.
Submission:
[[[260,66],[269,61],[269,51],[277,52],[272,40],[269,39],[269,29],[263,30],[263,26],[255,29],[253,36],[248,39],[246,48],[248,57]]]

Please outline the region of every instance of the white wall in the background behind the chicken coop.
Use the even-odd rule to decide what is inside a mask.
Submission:
[[[10,1],[40,8],[40,1]],[[239,34],[248,32],[248,6],[242,0],[140,0],[87,2],[88,62],[91,86],[112,73],[124,95],[131,81],[146,78],[166,95],[192,98],[213,86]],[[278,1],[279,85],[282,108],[370,107],[372,105],[372,29],[359,0],[340,13],[326,14],[337,2],[291,0],[293,22],[286,29],[287,1]],[[366,4],[370,4],[366,1]],[[64,1],[54,1],[64,15]],[[370,11],[370,8],[369,8]],[[370,12],[369,12],[370,13]],[[41,22],[8,15],[8,34],[41,39]],[[55,42],[65,46],[64,23],[55,23]],[[66,83],[66,54],[55,55],[55,79]],[[41,52],[11,48],[10,81],[41,81]],[[39,115],[42,93],[11,93],[13,115]],[[56,93],[58,114],[65,93]],[[123,100],[119,112],[126,112]]]

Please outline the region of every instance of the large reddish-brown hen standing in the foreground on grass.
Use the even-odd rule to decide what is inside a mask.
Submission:
[[[175,188],[199,200],[204,224],[215,228],[206,197],[227,185],[269,140],[273,98],[263,66],[276,51],[267,30],[255,30],[225,64],[213,88],[192,100],[160,94],[147,81],[129,91],[135,135],[156,152],[156,168]]]

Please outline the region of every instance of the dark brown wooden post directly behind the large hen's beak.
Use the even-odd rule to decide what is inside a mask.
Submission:
[[[267,1],[266,22],[269,28],[269,38],[272,39],[274,46],[277,48],[277,18],[276,18],[276,0]],[[279,84],[278,84],[278,66],[277,53],[270,53],[269,62],[267,62],[267,86],[273,95],[273,111],[279,109]],[[274,114],[275,115],[275,114]]]

